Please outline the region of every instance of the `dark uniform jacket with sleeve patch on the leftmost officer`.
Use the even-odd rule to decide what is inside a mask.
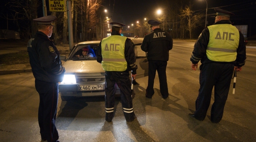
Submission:
[[[60,53],[46,34],[37,31],[28,42],[28,55],[35,79],[44,82],[62,82],[65,68]]]

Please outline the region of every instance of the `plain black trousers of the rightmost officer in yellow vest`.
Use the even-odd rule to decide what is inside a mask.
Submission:
[[[195,118],[204,120],[210,105],[214,86],[214,103],[211,108],[211,121],[218,123],[228,98],[230,82],[234,71],[232,64],[209,63],[200,66],[200,89],[195,101]]]

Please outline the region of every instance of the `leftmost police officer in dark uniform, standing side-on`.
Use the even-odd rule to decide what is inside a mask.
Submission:
[[[41,142],[59,142],[59,134],[55,127],[59,84],[65,73],[61,65],[60,53],[49,39],[52,35],[52,21],[56,16],[44,16],[33,19],[37,22],[38,31],[28,41],[28,55],[35,88],[39,93],[38,123]]]

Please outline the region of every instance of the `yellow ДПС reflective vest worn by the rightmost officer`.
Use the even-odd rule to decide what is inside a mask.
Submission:
[[[231,24],[216,24],[207,28],[210,32],[207,58],[217,62],[235,61],[236,49],[239,45],[238,29]]]

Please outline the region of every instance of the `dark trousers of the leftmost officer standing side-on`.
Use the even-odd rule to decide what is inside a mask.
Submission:
[[[38,123],[41,139],[58,142],[59,134],[55,127],[59,84],[35,80],[35,88],[39,93]]]

